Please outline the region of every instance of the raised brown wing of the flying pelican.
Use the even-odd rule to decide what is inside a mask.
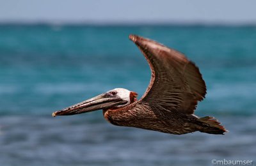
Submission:
[[[206,94],[205,82],[195,63],[156,41],[136,35],[129,38],[146,57],[152,72],[150,84],[140,101],[193,114],[198,101]]]

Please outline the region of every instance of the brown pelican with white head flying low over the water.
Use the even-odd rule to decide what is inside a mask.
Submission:
[[[136,35],[129,38],[146,57],[152,72],[150,84],[141,99],[136,99],[135,92],[116,88],[53,112],[52,116],[102,109],[105,119],[118,126],[173,134],[227,132],[214,117],[194,115],[197,103],[206,94],[205,82],[195,63],[156,41]]]

